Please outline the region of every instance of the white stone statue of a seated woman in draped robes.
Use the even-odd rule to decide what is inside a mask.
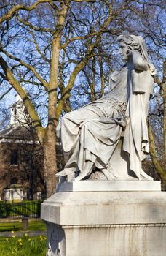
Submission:
[[[151,179],[142,170],[141,161],[149,154],[146,117],[155,68],[142,37],[124,34],[117,40],[126,64],[111,75],[108,94],[63,116],[62,146],[70,157],[56,176],[71,177],[68,181],[92,178],[95,172],[102,179],[117,179],[116,170],[108,168],[108,163],[122,130],[122,151],[127,152],[129,169],[137,179]]]

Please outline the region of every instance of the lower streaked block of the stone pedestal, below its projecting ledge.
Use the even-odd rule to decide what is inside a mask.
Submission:
[[[166,251],[162,224],[49,228],[47,256],[163,256]]]

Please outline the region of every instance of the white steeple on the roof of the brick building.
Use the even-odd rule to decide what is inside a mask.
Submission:
[[[18,94],[15,95],[15,103],[10,107],[10,125],[28,124],[28,115],[23,100]]]

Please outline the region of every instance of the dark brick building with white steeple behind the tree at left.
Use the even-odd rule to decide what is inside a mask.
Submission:
[[[58,167],[63,159],[58,143]],[[0,199],[43,199],[44,167],[42,148],[25,113],[20,97],[11,106],[9,127],[0,131]]]

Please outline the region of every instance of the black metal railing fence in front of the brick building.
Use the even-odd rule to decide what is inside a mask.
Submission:
[[[42,201],[0,203],[0,218],[40,217]]]

